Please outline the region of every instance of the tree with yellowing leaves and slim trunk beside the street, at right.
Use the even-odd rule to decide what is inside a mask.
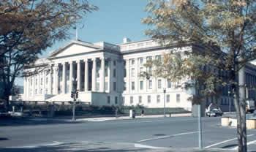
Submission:
[[[169,63],[170,58],[160,65],[173,70],[166,72],[169,78],[192,77],[199,81],[195,84],[203,90],[200,99],[208,92],[217,94],[219,86],[232,86],[238,118],[238,151],[247,151],[244,66],[256,55],[255,10],[256,1],[253,0],[155,0],[148,2],[149,15],[143,19],[150,28],[146,34],[162,45],[189,45],[195,50],[188,52],[184,59],[192,69],[184,66],[185,63],[178,65],[184,68],[174,68]],[[177,52],[173,50],[169,56]],[[205,73],[200,64],[227,71],[229,77],[223,80],[212,75],[214,71]]]

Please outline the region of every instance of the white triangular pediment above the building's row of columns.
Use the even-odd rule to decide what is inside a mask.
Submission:
[[[87,44],[83,42],[71,42],[65,47],[59,48],[54,51],[50,58],[59,58],[64,56],[73,56],[75,54],[89,53],[95,50],[101,50],[102,48],[96,45]]]

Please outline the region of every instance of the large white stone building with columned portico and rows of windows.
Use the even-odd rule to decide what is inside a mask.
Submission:
[[[191,110],[187,100],[189,94],[175,84],[159,77],[140,77],[146,70],[143,64],[149,59],[160,58],[171,49],[192,50],[192,46],[162,47],[153,40],[123,44],[108,42],[72,41],[50,54],[40,58],[28,72],[37,75],[24,79],[24,100],[72,101],[70,93],[74,87],[79,90],[78,100],[95,105],[144,105],[163,107],[164,89],[166,107],[184,107]],[[255,66],[246,68],[249,78],[256,83]],[[214,99],[207,99],[212,102]],[[232,98],[223,91],[221,104],[228,105]],[[233,106],[233,105],[232,105]]]

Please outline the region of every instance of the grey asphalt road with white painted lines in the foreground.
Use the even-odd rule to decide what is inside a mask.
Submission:
[[[220,126],[220,118],[203,118],[203,147],[236,150],[236,128]],[[256,129],[247,130],[248,149],[256,152]],[[196,148],[197,118],[147,118],[80,123],[26,123],[0,126],[0,151],[68,143],[127,144],[137,148]]]

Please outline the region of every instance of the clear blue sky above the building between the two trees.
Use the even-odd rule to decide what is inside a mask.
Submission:
[[[78,31],[79,39],[86,42],[110,42],[119,44],[124,37],[138,41],[148,39],[144,31],[147,26],[141,19],[147,16],[144,9],[147,0],[89,0],[91,4],[99,7],[96,12],[87,14],[81,24],[85,26]],[[70,39],[75,39],[75,30],[70,30]],[[70,39],[56,42],[40,57],[47,57],[52,50],[66,44]],[[23,79],[17,79],[18,85],[23,86]]]

